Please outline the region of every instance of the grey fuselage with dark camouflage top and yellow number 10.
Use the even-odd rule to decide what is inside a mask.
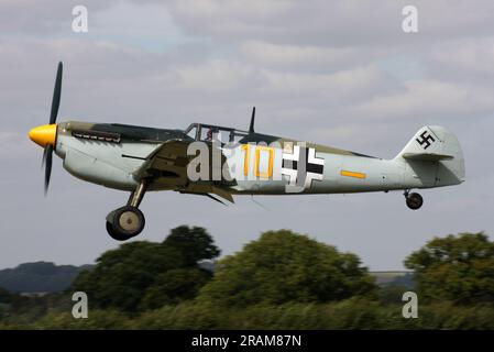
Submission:
[[[450,139],[448,131],[433,129],[438,135],[442,133],[446,140]],[[176,152],[166,154],[163,145],[171,141],[190,144],[196,140],[183,130],[69,121],[58,123],[55,152],[74,176],[130,191],[143,177],[149,179],[149,190],[249,195],[428,188],[459,184],[464,177],[461,150],[454,150],[460,154],[453,162],[410,161],[404,156],[406,153],[394,160],[382,160],[290,139],[245,133],[238,144],[223,147],[226,166],[223,163],[222,167],[231,179],[191,182],[180,173],[189,158]],[[151,163],[154,158],[160,158],[160,163]]]

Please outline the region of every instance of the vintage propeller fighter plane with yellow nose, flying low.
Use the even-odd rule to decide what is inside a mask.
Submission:
[[[117,241],[127,241],[144,229],[139,206],[146,191],[175,190],[233,202],[233,195],[402,190],[408,208],[417,210],[424,199],[411,189],[459,185],[465,179],[460,143],[439,125],[424,125],[394,158],[384,160],[255,132],[255,107],[246,131],[205,123],[191,123],[185,130],[57,123],[62,73],[61,62],[48,124],[29,132],[44,148],[45,195],[53,153],[73,176],[129,191],[127,205],[106,218],[107,231]],[[197,143],[206,145],[202,155],[197,154]],[[196,146],[194,153],[191,146]],[[215,155],[219,155],[216,161]],[[198,170],[205,177],[197,177]]]

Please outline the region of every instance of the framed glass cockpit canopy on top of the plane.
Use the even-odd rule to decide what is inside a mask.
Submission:
[[[219,141],[221,143],[237,143],[249,134],[248,131],[205,123],[193,123],[185,130],[185,133],[196,141]]]

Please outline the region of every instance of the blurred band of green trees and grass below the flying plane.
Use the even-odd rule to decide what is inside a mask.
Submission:
[[[405,258],[414,274],[380,285],[355,254],[289,230],[219,255],[197,227],[121,244],[64,267],[64,292],[0,288],[0,329],[494,329],[494,243],[482,232],[432,239]],[[46,264],[28,272],[53,272]],[[407,290],[417,319],[403,318]],[[74,292],[88,295],[88,319],[72,316]]]

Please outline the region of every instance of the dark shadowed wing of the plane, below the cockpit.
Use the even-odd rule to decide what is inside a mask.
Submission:
[[[196,194],[210,196],[215,194],[223,199],[233,202],[229,186],[231,183],[199,180],[190,182],[187,177],[187,167],[196,155],[187,155],[189,141],[168,140],[154,150],[144,164],[134,174],[136,178],[150,178],[150,190],[173,189],[184,194]],[[213,146],[209,146],[209,161],[211,161],[211,152]],[[221,153],[221,151],[217,151]],[[226,163],[226,157],[221,153],[221,165]],[[211,179],[212,166],[209,163],[209,176]],[[219,165],[218,167],[221,167]],[[233,183],[234,184],[234,183]]]

